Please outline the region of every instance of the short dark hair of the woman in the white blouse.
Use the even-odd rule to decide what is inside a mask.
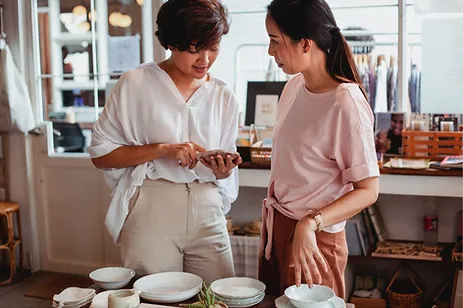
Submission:
[[[162,47],[186,51],[220,42],[230,29],[227,9],[218,0],[169,0],[161,6],[156,36]]]

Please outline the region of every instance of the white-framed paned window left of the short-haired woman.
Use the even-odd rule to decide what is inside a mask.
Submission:
[[[88,137],[119,76],[153,61],[152,0],[39,0],[37,6],[43,119],[75,121]],[[131,63],[116,58],[124,44],[133,47],[126,54]]]

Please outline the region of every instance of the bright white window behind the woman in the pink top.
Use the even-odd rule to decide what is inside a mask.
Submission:
[[[284,81],[289,76],[285,76],[267,54],[265,16],[269,1],[224,0],[223,3],[229,9],[232,25],[230,33],[222,40],[221,54],[212,67],[212,73],[234,88],[241,103],[240,112],[244,114],[248,81]],[[395,88],[391,87],[389,94],[386,84],[385,90],[380,91],[378,97],[371,89],[372,108],[377,112],[410,110],[409,105],[397,101],[399,1],[328,0],[328,3],[355,53],[359,71],[365,74],[366,69],[370,69],[376,75],[378,66],[381,66],[379,70],[384,70],[382,75],[388,71],[393,73],[394,79],[389,79],[393,80],[392,86]],[[421,24],[415,15],[414,1],[407,1],[406,18],[408,59],[404,63],[409,68],[406,70],[404,86],[408,86],[411,65],[421,62]],[[370,41],[358,41],[356,37],[369,37]],[[384,81],[387,82],[386,79]],[[375,106],[375,102],[378,105]]]

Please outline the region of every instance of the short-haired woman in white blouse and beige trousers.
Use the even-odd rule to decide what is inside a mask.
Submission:
[[[125,73],[89,148],[112,188],[106,226],[138,275],[185,271],[210,283],[234,275],[225,213],[238,194],[238,105],[208,70],[228,33],[215,0],[169,0],[156,35],[172,55]],[[206,150],[225,155],[201,159]]]

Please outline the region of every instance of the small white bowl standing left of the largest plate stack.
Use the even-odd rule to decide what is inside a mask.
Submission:
[[[135,271],[124,267],[103,267],[94,270],[89,277],[105,290],[121,289],[129,284]]]

